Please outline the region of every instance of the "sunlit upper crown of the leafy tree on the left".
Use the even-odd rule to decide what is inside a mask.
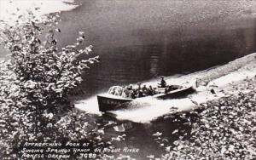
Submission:
[[[88,60],[78,60],[80,54],[90,54],[92,46],[78,49],[84,42],[84,32],[79,32],[77,43],[68,45],[59,51],[56,47],[55,28],[58,18],[49,15],[44,26],[49,31],[42,38],[43,27],[30,18],[15,27],[9,26],[3,31],[5,48],[11,54],[11,69],[15,73],[13,82],[19,89],[20,100],[26,106],[38,106],[40,110],[55,111],[67,104],[67,95],[71,89],[82,82],[81,74],[88,64],[98,61],[98,56]],[[58,108],[59,110],[59,108]]]

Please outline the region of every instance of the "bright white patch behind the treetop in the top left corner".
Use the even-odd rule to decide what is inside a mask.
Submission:
[[[59,11],[72,10],[74,0],[0,0],[0,20],[13,25],[20,14],[31,10],[36,17]]]

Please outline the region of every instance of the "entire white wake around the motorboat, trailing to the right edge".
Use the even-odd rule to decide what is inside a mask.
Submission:
[[[121,104],[121,108],[125,109],[108,112],[119,120],[149,123],[166,114],[191,111],[197,106],[203,106],[209,100],[218,100],[222,97],[237,94],[237,84],[243,83],[248,78],[255,77],[255,57],[256,54],[249,54],[224,66],[217,66],[180,77],[166,77],[166,82],[169,84],[181,84],[197,79],[199,87],[196,89],[196,92],[189,94],[185,98],[156,100],[152,97],[147,97]],[[149,83],[154,85],[157,83],[157,80]],[[248,90],[244,89],[243,92],[248,92]],[[80,100],[76,107],[89,113],[102,114],[98,110],[96,97],[92,97],[89,100]]]

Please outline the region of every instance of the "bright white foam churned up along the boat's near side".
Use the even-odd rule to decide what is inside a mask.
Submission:
[[[223,97],[224,94],[210,94],[208,90],[192,94],[189,98],[172,99],[172,100],[155,100],[148,101],[147,104],[141,101],[141,107],[136,109],[124,109],[119,111],[110,111],[120,120],[130,120],[136,123],[149,123],[157,117],[166,114],[173,114],[183,111],[192,111],[196,104],[205,103],[208,100],[215,100]]]

